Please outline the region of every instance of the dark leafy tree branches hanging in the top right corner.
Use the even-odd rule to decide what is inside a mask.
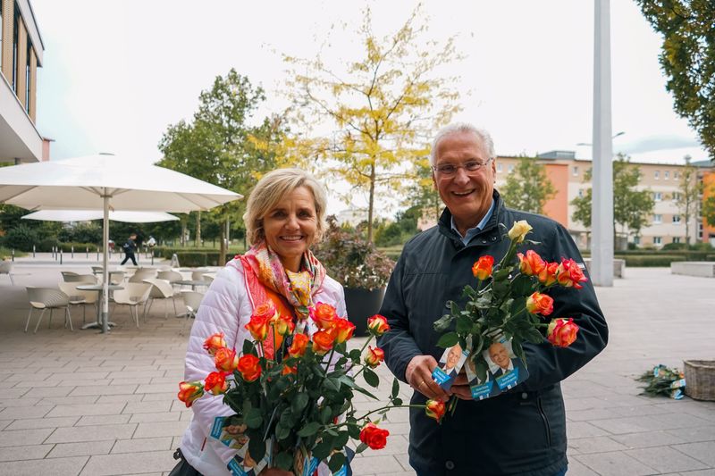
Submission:
[[[715,4],[712,0],[636,0],[663,37],[660,66],[676,113],[715,157]]]

